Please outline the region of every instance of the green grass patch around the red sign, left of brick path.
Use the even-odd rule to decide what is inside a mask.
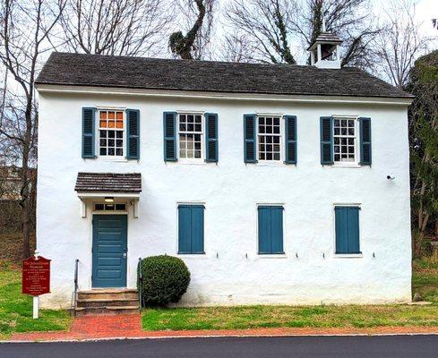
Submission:
[[[32,319],[32,298],[21,294],[21,271],[0,261],[0,339],[14,332],[67,329],[66,311],[40,310],[39,320]]]

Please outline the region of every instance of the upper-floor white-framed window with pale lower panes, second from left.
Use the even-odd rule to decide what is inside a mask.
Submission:
[[[179,158],[202,159],[203,115],[178,114]]]

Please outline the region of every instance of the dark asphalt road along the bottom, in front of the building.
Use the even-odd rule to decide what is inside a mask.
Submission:
[[[438,357],[438,336],[166,338],[4,343],[1,358]]]

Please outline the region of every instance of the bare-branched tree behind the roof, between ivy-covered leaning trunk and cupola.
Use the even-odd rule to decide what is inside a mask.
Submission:
[[[226,10],[228,59],[296,64],[289,46],[295,14],[296,6],[288,0],[231,0]]]

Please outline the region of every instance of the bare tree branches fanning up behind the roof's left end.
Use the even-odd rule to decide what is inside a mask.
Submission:
[[[156,55],[172,13],[165,0],[69,0],[61,16],[67,49]]]

